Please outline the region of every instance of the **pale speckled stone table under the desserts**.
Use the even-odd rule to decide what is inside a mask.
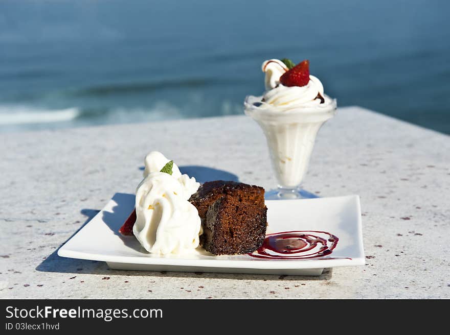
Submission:
[[[450,298],[446,135],[359,107],[325,124],[304,187],[361,196],[367,264],[319,277],[115,271],[56,254],[116,192],[133,193],[151,150],[272,188],[265,139],[250,118],[1,134],[0,142],[1,298]]]

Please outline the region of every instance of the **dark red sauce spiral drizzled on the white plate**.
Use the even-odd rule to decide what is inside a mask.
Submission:
[[[323,257],[333,252],[338,241],[337,236],[326,231],[283,231],[267,234],[261,247],[249,255],[270,259]]]

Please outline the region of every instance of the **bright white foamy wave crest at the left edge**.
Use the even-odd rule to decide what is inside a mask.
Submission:
[[[78,108],[42,109],[30,106],[0,106],[0,125],[23,125],[72,121]]]

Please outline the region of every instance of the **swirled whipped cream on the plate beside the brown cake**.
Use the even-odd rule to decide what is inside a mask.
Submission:
[[[202,233],[197,208],[188,199],[200,184],[182,175],[173,164],[172,175],[160,172],[169,159],[158,151],[145,157],[144,179],[136,190],[133,234],[154,254],[190,254]]]

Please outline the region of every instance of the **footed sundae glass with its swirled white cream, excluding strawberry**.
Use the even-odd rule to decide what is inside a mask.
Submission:
[[[316,135],[335,114],[336,100],[324,93],[321,81],[309,76],[305,86],[284,86],[288,70],[278,59],[262,64],[265,92],[245,98],[245,114],[259,124],[267,139],[278,181],[277,197],[302,198],[300,184],[307,172]]]

